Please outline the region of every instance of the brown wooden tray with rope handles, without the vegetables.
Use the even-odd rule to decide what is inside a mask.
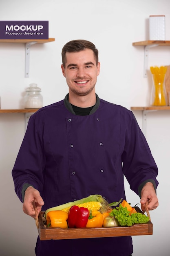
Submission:
[[[142,211],[139,207],[135,207],[137,212]],[[135,224],[131,227],[97,227],[97,228],[49,228],[44,227],[42,221],[44,211],[41,211],[38,216],[38,233],[40,240],[60,240],[60,239],[77,239],[77,238],[99,238],[99,237],[113,237],[113,236],[141,236],[152,235],[153,225],[148,221],[146,224]]]

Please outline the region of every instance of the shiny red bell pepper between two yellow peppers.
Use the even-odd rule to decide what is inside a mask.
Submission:
[[[85,207],[73,205],[68,213],[68,227],[86,227],[89,211]]]

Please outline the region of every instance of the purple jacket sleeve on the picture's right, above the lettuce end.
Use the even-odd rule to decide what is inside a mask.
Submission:
[[[126,125],[122,165],[130,189],[140,196],[141,189],[146,182],[152,182],[156,190],[158,168],[135,116],[132,112],[130,115],[130,121],[128,120]]]

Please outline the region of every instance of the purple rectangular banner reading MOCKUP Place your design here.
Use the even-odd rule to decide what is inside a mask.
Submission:
[[[0,21],[0,39],[49,39],[49,21]]]

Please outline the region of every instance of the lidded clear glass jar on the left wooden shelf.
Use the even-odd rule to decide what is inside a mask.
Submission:
[[[40,94],[41,89],[36,83],[31,83],[26,88],[26,95],[24,97],[24,108],[42,108],[43,98]]]

